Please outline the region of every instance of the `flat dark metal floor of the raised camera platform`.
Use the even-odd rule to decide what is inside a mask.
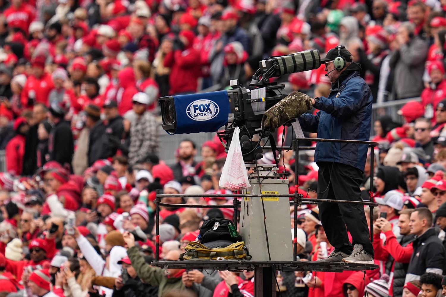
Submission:
[[[343,272],[344,270],[374,270],[379,268],[379,265],[376,264],[355,264],[346,262],[252,260],[178,260],[152,262],[151,265],[163,269],[214,269],[229,271],[273,268],[280,271]]]

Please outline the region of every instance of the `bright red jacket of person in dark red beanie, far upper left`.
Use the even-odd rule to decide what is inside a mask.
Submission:
[[[48,95],[53,89],[54,84],[51,74],[43,73],[40,78],[30,75],[21,93],[22,106],[29,106],[28,98],[33,97],[34,103],[43,103],[48,105]]]

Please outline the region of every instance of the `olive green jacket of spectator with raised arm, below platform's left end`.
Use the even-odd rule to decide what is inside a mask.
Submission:
[[[150,265],[145,262],[136,246],[129,248],[127,254],[136,274],[141,280],[149,285],[158,287],[158,297],[161,297],[163,293],[167,291],[181,290],[185,288],[181,280],[181,275],[179,275],[179,277],[167,277],[164,269],[150,267]]]

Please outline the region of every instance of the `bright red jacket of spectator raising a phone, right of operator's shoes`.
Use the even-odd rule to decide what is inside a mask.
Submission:
[[[412,243],[402,247],[401,244],[396,240],[395,234],[392,230],[384,233],[386,236],[386,245],[383,245],[380,235],[373,234],[373,249],[375,250],[375,260],[387,261],[388,256],[392,255],[395,259],[392,264],[392,272],[395,266],[395,262],[409,263],[410,257],[413,254]],[[390,283],[389,295],[393,296],[393,279]]]

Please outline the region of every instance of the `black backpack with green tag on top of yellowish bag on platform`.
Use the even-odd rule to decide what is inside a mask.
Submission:
[[[204,221],[200,228],[201,243],[205,244],[215,240],[228,240],[232,243],[242,241],[242,236],[240,235],[236,237],[231,236],[228,228],[229,224],[232,224],[232,221],[222,217]]]

